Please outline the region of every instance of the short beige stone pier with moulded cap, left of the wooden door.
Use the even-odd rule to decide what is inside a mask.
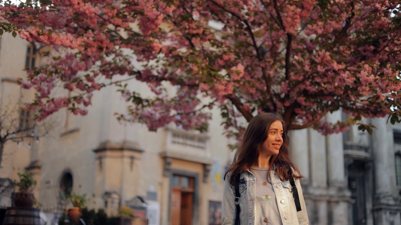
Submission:
[[[93,151],[96,157],[95,196],[103,203],[97,207],[105,208],[108,215],[115,215],[119,207],[138,195],[138,163],[143,150],[137,143],[106,141]]]

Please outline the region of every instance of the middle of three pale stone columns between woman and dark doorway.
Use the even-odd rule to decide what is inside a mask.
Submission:
[[[311,224],[328,224],[328,193],[326,139],[315,130],[308,129],[310,149],[310,195],[314,200]]]

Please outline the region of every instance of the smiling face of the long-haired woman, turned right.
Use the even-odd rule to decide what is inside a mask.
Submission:
[[[262,143],[259,155],[268,157],[277,155],[283,144],[283,124],[281,121],[274,121],[267,131],[267,138]]]

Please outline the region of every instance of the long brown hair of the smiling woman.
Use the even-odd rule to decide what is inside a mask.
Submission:
[[[281,121],[283,124],[283,144],[277,155],[273,155],[269,160],[269,171],[267,172],[267,181],[270,183],[269,174],[275,165],[276,173],[281,181],[289,179],[302,178],[298,167],[292,163],[288,150],[288,136],[286,133],[286,123],[282,117],[274,113],[261,113],[251,119],[242,140],[241,145],[234,155],[233,164],[226,171],[224,179],[230,174],[230,183],[234,185],[235,177],[242,171],[249,170],[252,166],[257,165],[259,157],[259,149],[263,142],[267,139],[268,130],[274,121]],[[293,171],[298,174],[294,174]]]

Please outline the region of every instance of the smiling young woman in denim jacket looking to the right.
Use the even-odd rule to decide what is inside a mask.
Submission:
[[[285,128],[281,117],[273,113],[259,114],[249,122],[233,164],[224,175],[223,225],[235,222],[238,174],[239,224],[309,224],[299,181],[302,176],[290,159]],[[302,209],[298,212],[290,184],[293,178]]]

